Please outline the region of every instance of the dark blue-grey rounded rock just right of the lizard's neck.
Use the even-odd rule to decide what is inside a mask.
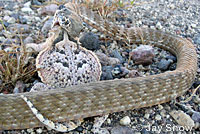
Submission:
[[[100,48],[98,36],[91,32],[84,34],[79,41],[81,42],[81,46],[89,50],[97,50]]]

